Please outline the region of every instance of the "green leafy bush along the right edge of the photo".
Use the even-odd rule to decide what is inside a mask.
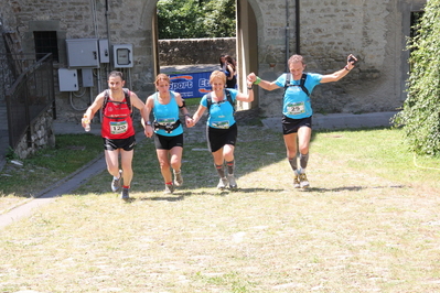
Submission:
[[[408,98],[394,117],[409,148],[419,154],[440,153],[440,0],[428,1],[417,34],[409,40]]]

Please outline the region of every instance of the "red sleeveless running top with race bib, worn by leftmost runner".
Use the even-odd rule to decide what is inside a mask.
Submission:
[[[101,137],[111,140],[127,139],[135,135],[131,110],[127,100],[114,101],[108,99],[103,113]]]

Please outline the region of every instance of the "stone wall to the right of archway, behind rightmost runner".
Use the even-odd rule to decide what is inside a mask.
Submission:
[[[258,1],[259,75],[275,80],[286,70],[286,39],[290,55],[297,43],[307,62],[307,72],[330,74],[346,64],[351,53],[359,58],[356,68],[337,83],[315,87],[312,105],[315,112],[394,111],[406,98],[406,35],[409,34],[410,12],[426,1],[301,1],[300,40],[296,28],[286,33],[286,24],[294,23],[294,1],[286,6],[277,1]],[[258,12],[258,11],[257,11]],[[298,42],[297,42],[298,41]],[[271,67],[270,65],[275,65]],[[281,109],[281,90],[260,90],[260,108],[267,116]]]

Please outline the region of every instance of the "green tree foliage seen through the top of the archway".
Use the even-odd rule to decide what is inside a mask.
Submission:
[[[159,39],[235,36],[234,0],[158,1]]]

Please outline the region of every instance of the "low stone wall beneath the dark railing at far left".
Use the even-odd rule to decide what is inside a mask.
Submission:
[[[35,119],[31,129],[31,145],[29,145],[28,137],[24,135],[15,148],[15,154],[20,159],[25,159],[44,148],[55,146],[55,133],[53,132],[52,109]]]

